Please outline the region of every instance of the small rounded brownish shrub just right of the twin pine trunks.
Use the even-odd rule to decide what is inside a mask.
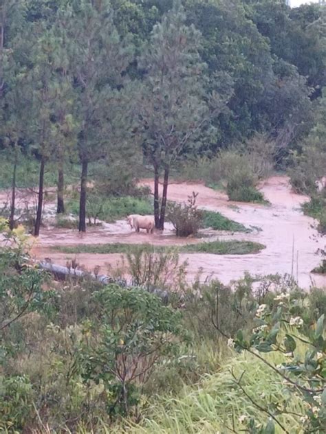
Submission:
[[[188,197],[187,204],[171,203],[166,213],[178,237],[195,235],[202,225],[202,212],[196,206],[197,194]]]

